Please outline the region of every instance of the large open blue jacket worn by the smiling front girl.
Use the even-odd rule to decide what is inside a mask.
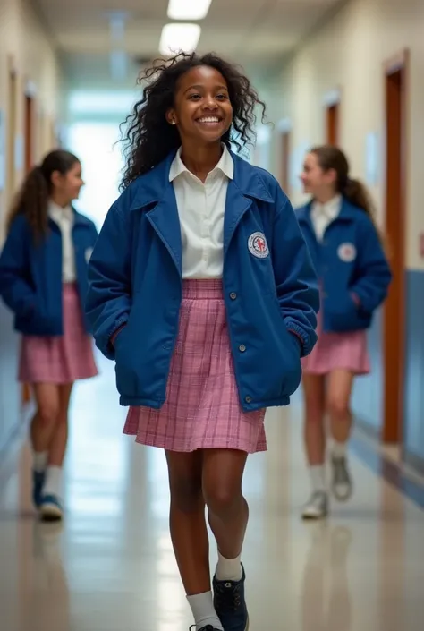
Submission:
[[[87,314],[98,348],[116,362],[121,405],[165,403],[182,302],[173,159],[174,153],[115,201],[89,262]],[[233,161],[223,286],[235,379],[250,411],[287,405],[298,388],[301,355],[316,342],[318,282],[276,180],[242,158]]]

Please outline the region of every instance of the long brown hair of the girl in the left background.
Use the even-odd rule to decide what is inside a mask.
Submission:
[[[80,160],[64,149],[55,149],[47,154],[39,166],[33,168],[26,176],[21,189],[13,200],[7,217],[7,230],[18,215],[24,215],[34,238],[39,240],[47,234],[48,200],[53,190],[52,175],[58,171],[66,175]]]

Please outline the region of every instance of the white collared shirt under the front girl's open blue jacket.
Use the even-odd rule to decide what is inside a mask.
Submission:
[[[224,215],[229,180],[234,164],[228,149],[201,182],[182,163],[181,149],[169,171],[174,184],[182,234],[182,278],[222,278],[224,263]]]

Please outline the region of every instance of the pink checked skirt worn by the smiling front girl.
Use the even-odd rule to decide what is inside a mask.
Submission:
[[[265,410],[239,403],[222,282],[183,282],[180,328],[160,410],[131,407],[123,432],[169,451],[267,450]]]

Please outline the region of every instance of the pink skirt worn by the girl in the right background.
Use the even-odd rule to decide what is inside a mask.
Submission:
[[[369,373],[369,354],[366,331],[325,333],[322,314],[318,313],[318,342],[312,353],[301,360],[302,371],[310,375],[326,375],[343,368],[355,375]]]

